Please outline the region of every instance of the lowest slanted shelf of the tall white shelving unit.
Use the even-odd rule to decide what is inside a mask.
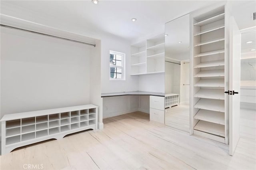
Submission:
[[[223,136],[223,137],[225,136],[225,126],[219,125],[216,123],[198,121],[194,129],[211,133],[211,134],[216,134],[218,136]]]

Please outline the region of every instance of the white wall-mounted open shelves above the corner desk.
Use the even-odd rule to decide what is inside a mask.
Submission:
[[[131,46],[131,75],[164,73],[164,36]]]

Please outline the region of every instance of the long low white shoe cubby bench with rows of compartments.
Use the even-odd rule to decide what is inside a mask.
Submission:
[[[51,138],[98,128],[98,107],[81,105],[4,115],[1,154]]]

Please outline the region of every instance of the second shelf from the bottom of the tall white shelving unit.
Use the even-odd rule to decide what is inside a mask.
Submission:
[[[225,125],[225,113],[200,109],[194,119]]]

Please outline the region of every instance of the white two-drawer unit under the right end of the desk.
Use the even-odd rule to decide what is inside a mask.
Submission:
[[[164,124],[164,97],[150,96],[150,121]]]

